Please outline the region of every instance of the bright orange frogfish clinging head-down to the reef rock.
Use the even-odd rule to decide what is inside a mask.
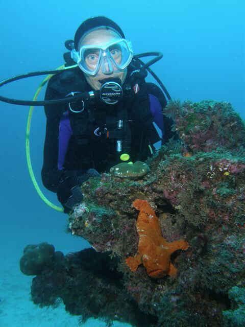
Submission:
[[[131,271],[136,271],[143,264],[150,277],[161,278],[174,275],[177,269],[170,261],[170,256],[177,250],[186,250],[189,245],[185,240],[167,243],[162,237],[159,220],[147,201],[136,199],[133,206],[139,210],[136,228],[139,235],[138,255],[129,256],[126,263]]]

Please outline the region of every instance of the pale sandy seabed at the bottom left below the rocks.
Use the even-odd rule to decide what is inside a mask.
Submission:
[[[19,270],[19,257],[0,254],[0,326],[1,327],[78,327],[79,317],[69,315],[64,305],[58,308],[39,308],[31,301],[32,276]],[[105,327],[106,323],[88,319],[84,327]],[[115,321],[113,327],[129,324]]]

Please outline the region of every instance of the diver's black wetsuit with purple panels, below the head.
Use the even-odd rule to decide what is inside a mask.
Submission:
[[[128,72],[125,84],[129,81]],[[131,86],[133,89],[133,85]],[[68,104],[45,106],[47,122],[42,180],[48,190],[57,192],[64,172],[76,171],[77,175],[82,175],[87,169],[94,168],[102,173],[120,162],[116,151],[117,138],[113,138],[119,111],[122,111],[128,122],[129,135],[126,137],[131,138],[131,149],[126,152],[130,152],[131,161],[145,160],[151,154],[149,145],[161,139],[152,124],[155,114],[153,111],[156,109],[154,106],[158,106],[155,110],[158,111],[156,123],[164,132],[162,141],[169,138],[169,121],[165,118],[163,120],[161,113],[159,118],[159,110],[166,105],[162,92],[152,83],[139,84],[139,88],[137,94],[115,105],[90,100],[85,103],[81,113],[71,112]],[[52,77],[47,86],[45,100],[59,99],[70,92],[87,90],[91,90],[91,87],[80,69],[69,69]],[[104,129],[105,125],[107,129]]]

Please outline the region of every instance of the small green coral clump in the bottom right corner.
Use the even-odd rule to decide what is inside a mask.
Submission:
[[[224,327],[245,325],[245,288],[234,286],[229,290],[231,310],[223,311]]]

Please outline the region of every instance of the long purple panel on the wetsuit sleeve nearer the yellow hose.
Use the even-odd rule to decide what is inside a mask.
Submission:
[[[62,170],[65,162],[65,155],[67,152],[70,136],[72,135],[70,120],[68,112],[66,112],[61,120],[59,126],[59,153],[58,153],[58,170]]]

